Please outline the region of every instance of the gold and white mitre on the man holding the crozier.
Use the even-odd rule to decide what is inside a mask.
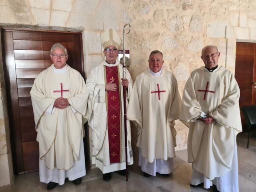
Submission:
[[[101,35],[101,44],[103,48],[109,45],[112,45],[118,48],[120,43],[121,43],[121,40],[118,33],[112,28],[107,29]]]

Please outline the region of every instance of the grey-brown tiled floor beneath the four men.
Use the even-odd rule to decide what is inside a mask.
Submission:
[[[238,168],[240,192],[256,192],[256,137],[250,137],[247,149],[247,134],[239,134]],[[150,178],[142,176],[140,167],[135,163],[129,167],[129,180],[117,173],[112,174],[108,182],[102,180],[102,173],[98,168],[91,169],[83,178],[82,183],[75,186],[67,182],[57,186],[52,192],[211,192],[212,189],[191,188],[189,186],[192,173],[191,164],[187,162],[186,150],[176,152],[174,171],[169,177],[156,175]],[[46,184],[39,182],[38,172],[16,176],[11,186],[0,188],[1,192],[43,192]]]

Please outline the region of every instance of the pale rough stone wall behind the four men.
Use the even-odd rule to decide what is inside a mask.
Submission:
[[[147,68],[149,53],[158,49],[164,54],[164,68],[174,73],[182,95],[190,72],[203,65],[200,52],[206,45],[218,46],[219,64],[234,72],[236,42],[256,41],[255,9],[255,0],[0,0],[0,26],[82,32],[88,76],[102,60],[100,34],[113,27],[122,37],[124,24],[130,23],[126,48],[130,50],[132,78]],[[3,95],[2,60],[0,64]],[[7,154],[11,160],[10,148],[1,150],[10,140],[5,101],[1,97],[0,175],[12,169],[11,163],[2,160]],[[188,128],[177,121],[176,130],[176,150],[181,150],[186,148]],[[135,136],[133,129],[134,144]],[[9,169],[2,171],[3,166]],[[11,181],[12,176],[9,178]]]

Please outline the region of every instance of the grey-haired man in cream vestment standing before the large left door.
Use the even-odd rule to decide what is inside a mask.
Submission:
[[[39,142],[40,181],[51,190],[65,178],[80,184],[86,174],[84,128],[89,92],[77,70],[66,64],[67,49],[52,46],[53,64],[35,79],[30,91]]]

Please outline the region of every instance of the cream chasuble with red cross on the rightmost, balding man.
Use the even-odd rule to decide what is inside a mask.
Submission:
[[[188,162],[210,180],[232,169],[235,136],[242,131],[239,87],[232,72],[194,70],[186,82],[180,120],[189,123]],[[202,112],[211,124],[197,120]]]

